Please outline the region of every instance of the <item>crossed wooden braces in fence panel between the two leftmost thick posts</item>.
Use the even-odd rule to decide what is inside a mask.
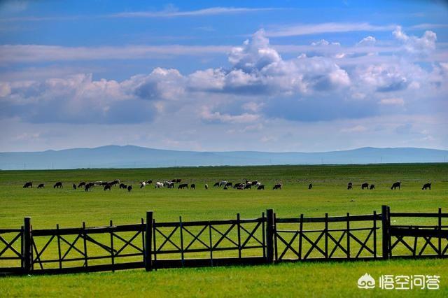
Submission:
[[[48,248],[48,246],[50,245],[50,243],[52,243],[53,239],[57,239],[57,246],[58,246],[58,250],[59,250],[59,257],[57,260],[55,261],[59,261],[59,262],[63,262],[63,261],[74,261],[74,260],[85,260],[83,267],[87,267],[87,260],[89,259],[88,255],[87,255],[87,248],[86,246],[84,246],[84,251],[80,250],[79,248],[76,247],[76,243],[78,242],[79,239],[84,239],[86,242],[90,242],[93,243],[94,245],[98,246],[99,248],[102,248],[104,250],[106,250],[107,253],[111,254],[110,257],[129,257],[132,255],[143,255],[144,253],[144,249],[143,248],[139,248],[138,246],[134,245],[134,243],[132,243],[132,241],[134,241],[134,239],[137,238],[137,236],[139,236],[142,232],[141,231],[137,231],[136,234],[134,234],[129,240],[123,238],[122,236],[111,232],[111,241],[113,239],[113,237],[115,237],[116,239],[120,239],[120,241],[123,241],[123,246],[121,246],[120,248],[115,249],[111,246],[107,246],[104,243],[101,243],[95,239],[93,239],[91,236],[89,236],[88,234],[84,234],[84,233],[80,233],[76,235],[76,238],[73,241],[69,241],[66,238],[64,238],[64,236],[62,235],[56,235],[53,234],[50,239],[48,239],[48,241],[45,243],[45,245],[41,248],[41,250],[38,250],[37,246],[36,246],[36,241],[34,241],[34,237],[31,237],[31,246],[34,250],[34,254],[36,255],[36,257],[33,258],[33,264],[38,263],[39,267],[41,269],[43,269],[43,263],[45,263],[44,260],[41,260],[41,256],[43,255],[43,253],[45,252],[45,250]],[[62,253],[60,253],[60,241],[66,243],[69,248],[67,248],[67,250],[64,252],[64,254],[62,255]],[[139,253],[133,253],[133,254],[127,254],[127,255],[120,255],[120,253],[123,252],[123,250],[125,250],[125,248],[127,248],[128,246],[134,248],[135,250],[137,250]],[[75,259],[66,259],[66,257],[69,255],[69,253],[71,252],[71,250],[76,250],[76,252],[80,253],[80,255],[82,256],[82,258],[75,258]],[[109,255],[108,255],[109,257]],[[54,261],[54,260],[50,260],[50,261]]]

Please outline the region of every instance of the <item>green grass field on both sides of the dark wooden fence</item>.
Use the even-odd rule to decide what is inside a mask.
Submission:
[[[92,192],[72,190],[81,180],[113,180],[120,178],[132,184],[128,193],[113,188],[105,192],[95,187]],[[156,190],[152,185],[140,190],[141,180],[182,178],[195,183],[197,190]],[[222,190],[211,187],[214,182],[245,179],[260,180],[266,190]],[[22,189],[33,181],[33,189]],[[61,180],[64,189],[52,184]],[[390,190],[391,184],[402,181],[401,190]],[[353,182],[353,190],[346,184]],[[283,183],[283,190],[272,190],[274,183]],[[375,190],[360,190],[363,182],[373,183]],[[433,190],[421,185],[433,183]],[[37,190],[38,183],[45,189]],[[204,183],[209,190],[204,190]],[[307,185],[313,183],[313,189]],[[20,227],[23,217],[32,218],[34,229],[130,224],[140,222],[145,211],[154,211],[155,220],[174,221],[179,216],[188,220],[255,218],[273,208],[279,218],[306,216],[371,214],[381,212],[381,205],[392,212],[447,212],[447,164],[381,164],[366,166],[246,166],[200,167],[176,169],[82,169],[72,171],[0,171],[0,227]],[[416,219],[397,223],[421,224]],[[427,222],[425,222],[428,224]],[[444,222],[445,224],[445,222]],[[77,274],[66,276],[33,276],[0,278],[1,296],[97,296],[141,295],[162,296],[358,296],[397,295],[398,291],[358,290],[356,281],[368,271],[374,274],[437,274],[441,290],[407,291],[407,295],[446,297],[448,269],[446,260],[393,260],[388,262],[345,262],[317,264],[279,264],[261,267],[229,267],[208,269],[122,271],[115,274]],[[5,290],[6,289],[6,290]]]

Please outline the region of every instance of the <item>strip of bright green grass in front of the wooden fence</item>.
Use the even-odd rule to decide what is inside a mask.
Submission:
[[[448,260],[290,263],[0,278],[3,297],[447,297]],[[368,273],[439,275],[440,290],[360,290]]]

